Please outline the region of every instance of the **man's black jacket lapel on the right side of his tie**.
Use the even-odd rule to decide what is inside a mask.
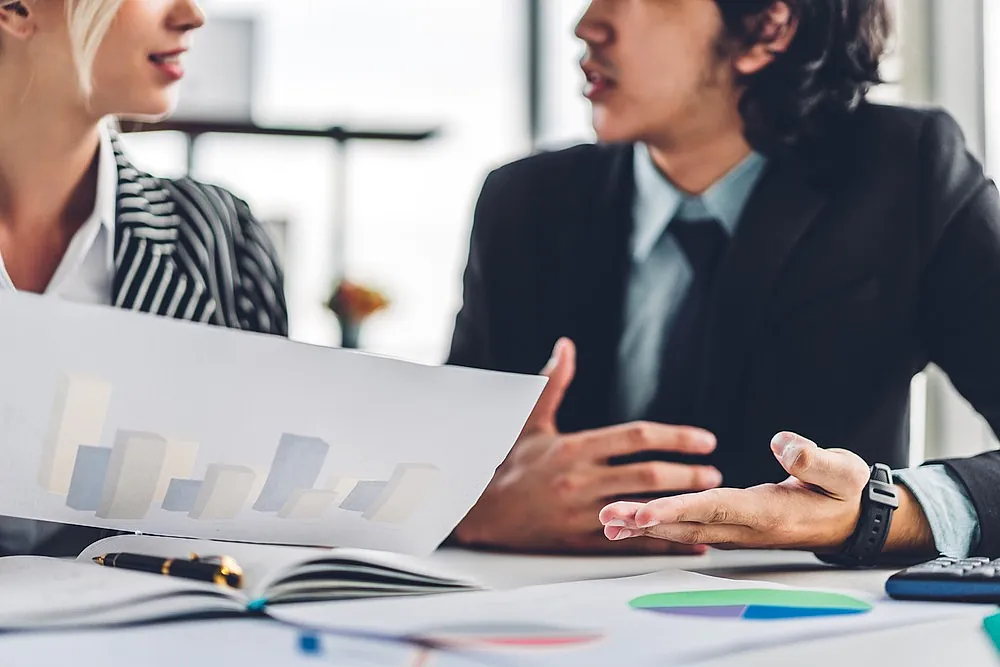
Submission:
[[[788,257],[816,220],[826,196],[808,171],[787,159],[771,163],[751,194],[722,266],[708,325],[700,387],[707,426],[738,422],[741,384],[767,303]],[[742,398],[741,398],[742,397]]]

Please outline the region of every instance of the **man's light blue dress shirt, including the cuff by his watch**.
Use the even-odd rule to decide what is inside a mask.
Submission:
[[[684,251],[672,235],[664,234],[670,221],[714,218],[732,235],[766,166],[764,157],[751,153],[700,196],[691,196],[663,176],[644,144],[636,144],[634,160],[631,269],[616,392],[622,421],[639,419],[652,400],[659,382],[661,342],[691,285]],[[965,488],[947,468],[929,465],[896,471],[894,476],[923,508],[938,551],[965,557],[975,548],[978,516]]]

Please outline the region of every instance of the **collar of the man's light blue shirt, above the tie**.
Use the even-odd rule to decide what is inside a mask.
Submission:
[[[674,218],[715,218],[732,234],[767,160],[751,152],[700,196],[687,195],[667,180],[645,144],[635,145],[634,163],[632,258],[642,262]]]

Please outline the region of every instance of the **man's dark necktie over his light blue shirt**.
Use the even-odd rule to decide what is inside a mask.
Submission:
[[[705,354],[709,305],[729,235],[718,220],[679,220],[667,226],[691,265],[691,286],[664,338],[659,387],[649,418],[668,424],[697,425],[698,394]]]

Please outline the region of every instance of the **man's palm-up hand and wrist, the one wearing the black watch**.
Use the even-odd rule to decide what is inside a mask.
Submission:
[[[771,450],[790,477],[750,489],[713,489],[649,503],[613,503],[600,512],[609,540],[656,537],[719,548],[803,549],[841,547],[858,523],[869,467],[843,449],[821,449],[792,433],[779,433]],[[919,504],[900,487],[887,551],[924,551],[933,536]]]

